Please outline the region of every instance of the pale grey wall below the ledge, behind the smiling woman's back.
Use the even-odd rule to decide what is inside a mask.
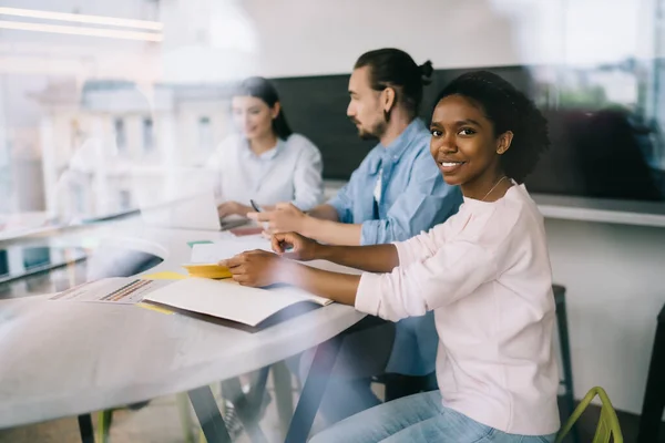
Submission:
[[[576,396],[605,388],[641,413],[665,303],[665,229],[569,220],[545,224],[554,280],[566,303]]]

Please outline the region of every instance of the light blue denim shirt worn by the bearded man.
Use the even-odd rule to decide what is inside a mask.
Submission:
[[[462,193],[443,182],[429,142],[429,130],[416,119],[390,145],[377,145],[328,202],[339,222],[362,224],[361,245],[407,240],[457,213]],[[375,206],[379,171],[381,200]],[[432,312],[399,321],[386,372],[433,372],[438,341]]]

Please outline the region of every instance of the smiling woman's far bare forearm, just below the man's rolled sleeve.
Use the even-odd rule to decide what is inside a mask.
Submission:
[[[319,245],[316,258],[367,272],[390,272],[399,266],[395,245],[329,246]]]

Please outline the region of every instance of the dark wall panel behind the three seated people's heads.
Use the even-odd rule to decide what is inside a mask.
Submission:
[[[541,68],[542,69],[542,68]],[[525,66],[490,68],[532,99],[538,87]],[[470,70],[438,70],[424,90],[421,116],[429,122],[438,92]],[[324,176],[348,179],[376,142],[358,138],[347,119],[349,75],[275,79],[288,121],[321,150]],[[538,102],[538,100],[536,100]],[[627,106],[544,109],[551,150],[526,179],[530,190],[596,198],[664,200],[662,171],[644,153],[654,150],[655,132],[641,126]],[[654,142],[656,141],[656,142]]]

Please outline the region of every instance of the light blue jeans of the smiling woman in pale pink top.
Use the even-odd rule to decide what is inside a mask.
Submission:
[[[552,435],[507,434],[444,408],[439,391],[395,400],[316,434],[311,443],[553,443]]]

